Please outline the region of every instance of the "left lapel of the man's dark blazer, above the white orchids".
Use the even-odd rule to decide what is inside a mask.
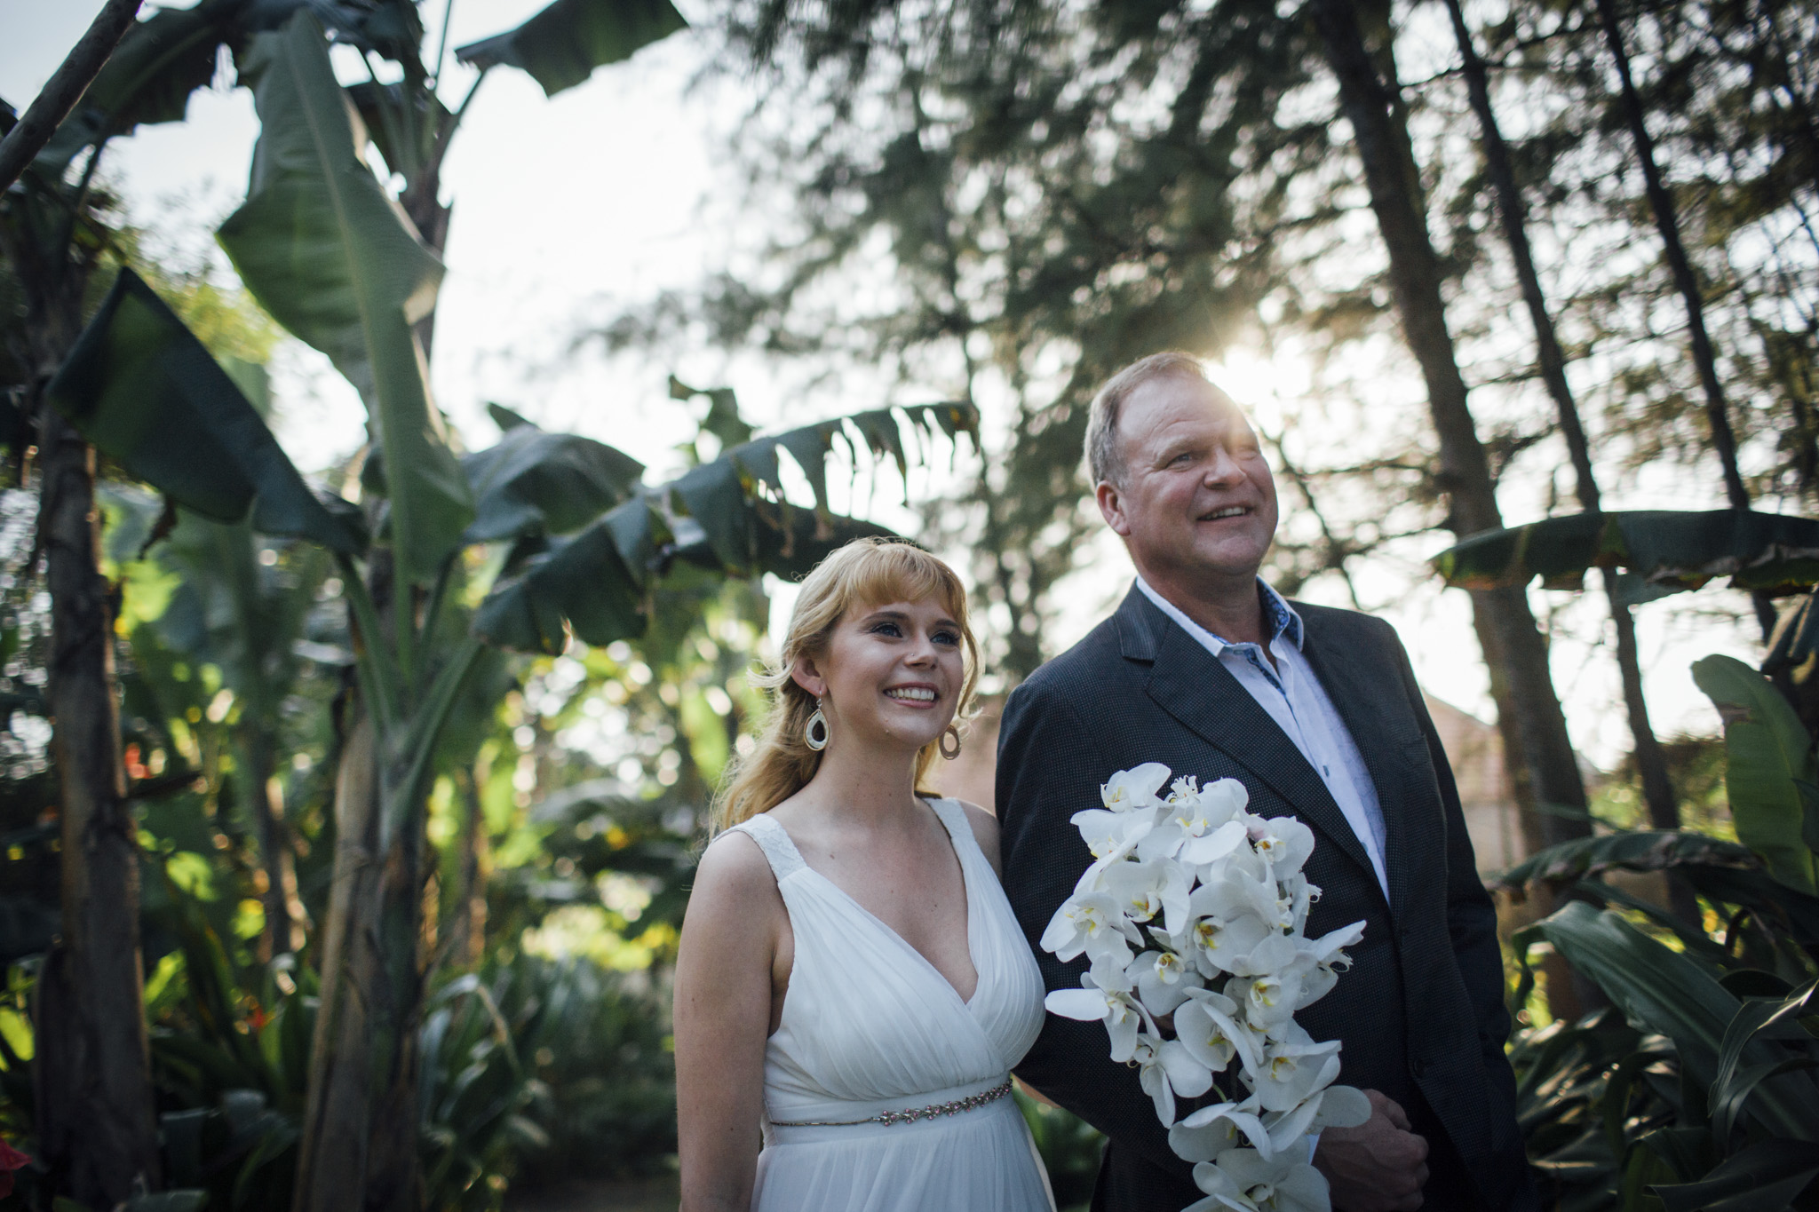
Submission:
[[[1175,627],[1148,598],[1142,598],[1142,591],[1133,589],[1131,598],[1137,598],[1137,603],[1126,598],[1119,611],[1121,631],[1126,638],[1124,654],[1142,660],[1139,656],[1142,649],[1153,645],[1153,654],[1148,660],[1155,663],[1144,689],[1157,707],[1268,783],[1295,807],[1299,816],[1362,867],[1375,885],[1377,874],[1357,834],[1352,832],[1346,814],[1339,810],[1326,783],[1301,756],[1281,725],[1257,705],[1250,690],[1222,663],[1213,660],[1211,652],[1181,627]],[[1142,620],[1148,625],[1146,636],[1135,627],[1122,627],[1131,607],[1139,603],[1144,612],[1153,616]],[[1137,620],[1130,621],[1137,623]],[[1133,643],[1133,638],[1148,638],[1151,643]]]

